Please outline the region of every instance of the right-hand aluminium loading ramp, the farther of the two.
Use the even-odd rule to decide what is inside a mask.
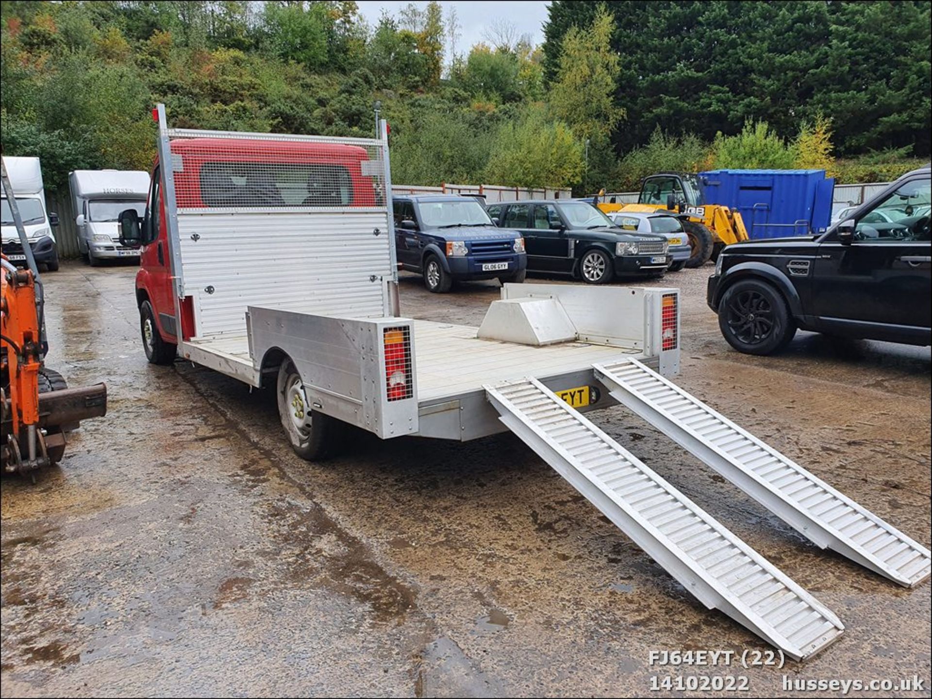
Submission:
[[[629,410],[784,519],[830,548],[900,585],[929,576],[929,552],[747,430],[636,359],[596,364],[596,378]]]

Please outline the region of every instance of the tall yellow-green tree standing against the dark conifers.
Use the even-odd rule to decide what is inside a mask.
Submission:
[[[570,27],[560,43],[550,102],[580,138],[608,136],[624,117],[615,105],[618,54],[611,48],[614,20],[604,5],[585,29]]]

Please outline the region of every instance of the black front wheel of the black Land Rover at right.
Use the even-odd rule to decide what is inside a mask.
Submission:
[[[747,355],[772,355],[796,334],[796,323],[779,291],[756,279],[735,282],[719,303],[719,329]]]

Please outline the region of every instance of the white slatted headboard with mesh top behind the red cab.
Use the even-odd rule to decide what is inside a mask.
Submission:
[[[249,305],[384,316],[382,141],[170,129],[195,339],[246,333]]]

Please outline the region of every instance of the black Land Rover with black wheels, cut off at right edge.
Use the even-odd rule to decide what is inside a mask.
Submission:
[[[769,355],[797,328],[932,343],[929,166],[903,175],[822,235],[723,249],[706,302],[736,350]]]

